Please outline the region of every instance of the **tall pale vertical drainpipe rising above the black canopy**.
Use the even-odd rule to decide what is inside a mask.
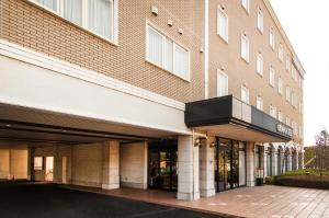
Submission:
[[[204,99],[209,97],[209,0],[204,0]]]

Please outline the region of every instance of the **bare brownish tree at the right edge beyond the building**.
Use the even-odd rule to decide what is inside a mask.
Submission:
[[[329,146],[328,142],[329,133],[326,129],[316,135],[316,168],[320,170],[321,175],[324,170],[329,169],[329,156],[327,151],[327,146]]]

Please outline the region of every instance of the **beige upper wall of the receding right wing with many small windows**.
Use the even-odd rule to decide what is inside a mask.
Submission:
[[[263,0],[250,1],[250,13],[247,13],[240,1],[212,0],[209,1],[209,96],[217,95],[217,69],[224,68],[228,76],[229,94],[241,97],[241,85],[246,85],[250,92],[250,104],[256,106],[256,97],[260,95],[264,102],[264,112],[270,113],[270,104],[275,106],[283,114],[283,122],[288,116],[295,121],[298,126],[303,125],[303,115],[291,103],[285,100],[285,87],[291,87],[297,94],[298,100],[303,99],[303,90],[298,82],[294,81],[291,71],[285,70],[286,54],[292,58],[294,51],[291,50],[288,43],[285,42],[280,28],[270,15]],[[228,43],[217,35],[217,9],[224,7],[228,15],[229,30]],[[257,28],[257,12],[261,8],[264,14],[263,34]],[[275,33],[275,49],[269,44],[270,27]],[[241,34],[247,35],[250,42],[249,62],[240,57]],[[279,44],[284,47],[284,61],[279,59]],[[256,58],[258,51],[261,51],[264,58],[263,77],[256,71]],[[275,87],[271,87],[270,66],[275,69]],[[292,64],[291,64],[292,66]],[[279,76],[283,79],[283,95],[279,94],[277,80]],[[295,138],[299,140],[299,138]]]

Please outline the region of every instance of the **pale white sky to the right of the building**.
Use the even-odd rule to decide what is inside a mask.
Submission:
[[[304,145],[329,130],[329,1],[270,0],[305,71]]]

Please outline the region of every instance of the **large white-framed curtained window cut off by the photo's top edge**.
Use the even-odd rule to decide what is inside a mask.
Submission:
[[[117,0],[30,0],[106,41],[117,44]]]

